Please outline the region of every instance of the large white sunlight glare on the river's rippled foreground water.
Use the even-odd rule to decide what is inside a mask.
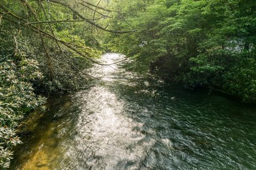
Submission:
[[[118,164],[136,163],[142,159],[146,152],[143,148],[148,143],[135,145],[145,138],[145,135],[133,129],[141,127],[143,124],[124,117],[122,101],[118,101],[115,94],[106,88],[94,87],[87,94],[90,95],[83,98],[85,105],[83,105],[80,121],[77,124],[79,135],[76,140],[85,141],[79,142],[77,147],[85,152],[87,148],[90,148],[87,151],[93,152],[94,159],[100,158],[97,163],[92,161],[90,166],[93,169],[97,167],[111,169],[118,167]],[[87,100],[90,103],[86,103]],[[88,110],[93,111],[93,114],[88,115]],[[90,123],[84,124],[82,120],[90,120]],[[133,150],[136,152],[133,153]],[[85,153],[85,155],[87,154]]]

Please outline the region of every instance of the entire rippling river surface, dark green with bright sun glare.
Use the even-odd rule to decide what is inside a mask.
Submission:
[[[115,65],[91,72],[104,81],[52,99],[11,169],[256,169],[255,107]]]

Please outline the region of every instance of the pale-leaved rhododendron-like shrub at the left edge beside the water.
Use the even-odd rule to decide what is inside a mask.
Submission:
[[[21,143],[15,128],[25,114],[44,109],[45,98],[36,96],[30,83],[39,79],[42,73],[35,60],[0,63],[0,166],[4,168],[9,167],[12,147]]]

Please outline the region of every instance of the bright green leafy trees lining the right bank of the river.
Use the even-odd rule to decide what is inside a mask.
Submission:
[[[187,88],[220,89],[256,101],[255,1],[119,0],[113,6],[124,9],[138,31],[109,35],[109,49],[135,56]],[[130,27],[115,21],[111,26]]]

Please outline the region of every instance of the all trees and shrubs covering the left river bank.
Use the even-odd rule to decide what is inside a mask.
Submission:
[[[94,11],[81,11],[74,1],[65,3],[92,18]],[[27,24],[55,20],[60,22]],[[0,2],[0,168],[9,167],[13,146],[21,143],[16,134],[20,123],[29,113],[45,109],[46,98],[38,94],[84,87],[89,79],[84,70],[102,54],[100,32],[92,33],[86,22],[67,20],[78,19],[66,6],[48,1]]]

